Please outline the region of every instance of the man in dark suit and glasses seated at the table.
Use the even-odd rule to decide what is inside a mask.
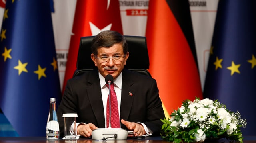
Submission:
[[[120,127],[134,131],[135,136],[159,135],[164,111],[156,80],[124,69],[128,57],[128,46],[120,33],[102,31],[94,37],[91,59],[98,69],[68,80],[57,111],[61,136],[63,113],[78,114],[77,135],[90,137],[92,130],[107,127],[108,74],[114,78]]]

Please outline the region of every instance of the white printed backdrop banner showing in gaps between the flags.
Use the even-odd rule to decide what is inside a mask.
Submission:
[[[60,85],[62,88],[66,69],[66,61],[68,57],[68,49],[70,47],[70,37],[73,35],[72,25],[74,21],[74,13],[77,0],[53,1],[54,12],[52,12],[52,22],[57,52]],[[100,1],[105,2],[107,0]],[[150,0],[119,0],[122,31],[124,35],[145,36],[149,1]],[[4,1],[0,1],[0,3],[0,24],[2,24],[5,4]],[[218,0],[189,0],[189,3],[194,29],[196,52],[198,56],[198,66],[200,69],[200,78],[203,87]],[[12,128],[6,128],[9,126],[8,124],[1,122],[6,120],[2,117],[4,116],[0,116],[0,132],[13,131]]]

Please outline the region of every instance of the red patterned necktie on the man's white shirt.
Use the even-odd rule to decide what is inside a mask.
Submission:
[[[108,87],[108,84],[106,84]],[[118,112],[118,103],[116,98],[116,92],[114,89],[114,84],[110,84],[110,102],[111,102],[111,128],[120,128],[120,119]],[[107,101],[107,128],[109,125],[109,96]]]

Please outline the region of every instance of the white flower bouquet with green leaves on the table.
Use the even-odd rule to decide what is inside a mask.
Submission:
[[[170,119],[161,119],[161,137],[169,142],[204,142],[205,139],[226,138],[242,142],[240,127],[246,119],[239,112],[229,111],[224,104],[208,98],[184,100]]]

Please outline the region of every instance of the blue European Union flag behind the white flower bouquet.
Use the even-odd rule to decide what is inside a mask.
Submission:
[[[204,85],[204,98],[218,99],[247,119],[243,135],[256,135],[256,1],[220,0]]]

